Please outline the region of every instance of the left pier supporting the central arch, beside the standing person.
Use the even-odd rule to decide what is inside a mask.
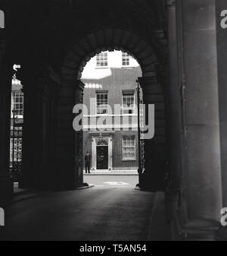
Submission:
[[[57,123],[55,126],[54,188],[73,189],[82,185],[82,131],[74,131],[73,107],[82,103],[81,81],[62,84],[58,94]]]

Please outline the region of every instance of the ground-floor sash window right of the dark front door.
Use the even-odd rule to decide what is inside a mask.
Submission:
[[[135,136],[123,136],[123,160],[135,160]]]

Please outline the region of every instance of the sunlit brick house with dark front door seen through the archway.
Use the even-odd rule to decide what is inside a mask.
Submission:
[[[101,52],[82,73],[88,109],[83,123],[84,155],[91,153],[92,170],[138,168],[138,77],[138,62],[121,51]]]

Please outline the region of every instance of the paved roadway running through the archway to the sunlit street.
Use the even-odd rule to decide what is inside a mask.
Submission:
[[[154,194],[135,190],[138,176],[86,176],[95,187],[50,192],[5,209],[2,239],[146,240]]]

